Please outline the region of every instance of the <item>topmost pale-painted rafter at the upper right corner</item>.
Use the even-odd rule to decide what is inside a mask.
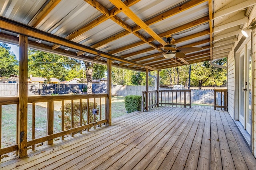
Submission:
[[[246,1],[234,1],[237,2],[238,4],[234,5],[234,6],[230,6],[229,8],[225,8],[225,9],[221,9],[218,10],[217,12],[214,13],[214,20],[220,17],[223,17],[225,15],[231,14],[233,12],[239,11],[239,10],[243,10],[245,8],[247,8],[248,6],[252,6],[254,4],[256,4],[255,0],[246,0]]]

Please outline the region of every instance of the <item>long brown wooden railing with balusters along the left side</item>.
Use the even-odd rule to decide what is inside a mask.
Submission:
[[[98,115],[93,115],[94,119],[90,123],[89,121],[89,114],[92,114],[92,109],[89,107],[89,102],[93,102],[93,108],[96,109],[96,99],[99,102],[98,105]],[[64,101],[71,101],[71,128],[64,130]],[[74,100],[79,102],[80,106],[80,122],[78,127],[74,127]],[[61,137],[62,140],[64,140],[64,135],[71,134],[71,136],[74,136],[74,133],[79,132],[82,133],[83,130],[89,131],[91,127],[94,127],[96,129],[96,125],[101,125],[104,123],[108,123],[108,120],[106,119],[106,100],[107,100],[107,94],[80,94],[80,95],[57,95],[57,96],[28,96],[28,103],[32,104],[32,140],[27,141],[27,147],[32,146],[32,150],[34,150],[34,147],[38,143],[42,143],[44,141],[48,141],[48,145],[53,144],[53,139]],[[54,102],[61,101],[61,131],[54,133]],[[102,108],[103,104],[104,107]],[[46,102],[47,103],[47,113],[45,116],[47,117],[47,129],[46,133],[47,135],[44,137],[40,137],[38,139],[35,139],[35,115],[36,115],[36,103],[38,102]],[[82,124],[82,102],[85,102],[87,104],[87,123]],[[19,98],[18,97],[2,97],[0,98],[0,143],[2,143],[2,106],[3,105],[16,105],[16,120],[13,122],[16,123],[16,144],[11,145],[8,147],[0,148],[0,158],[1,155],[18,151],[18,110],[19,110]],[[90,110],[89,110],[90,108]],[[59,108],[58,108],[59,109]],[[104,109],[102,111],[102,109]],[[102,119],[102,113],[105,113],[104,119]],[[13,113],[10,113],[13,114]],[[98,121],[96,121],[96,116],[98,117]],[[4,134],[8,135],[8,134]],[[1,145],[0,145],[1,146]],[[0,159],[1,160],[1,159]]]

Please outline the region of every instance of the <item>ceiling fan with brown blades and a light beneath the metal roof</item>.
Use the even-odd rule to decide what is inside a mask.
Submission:
[[[186,57],[185,53],[191,53],[203,49],[201,47],[184,47],[177,49],[177,46],[175,44],[172,44],[172,37],[168,37],[167,41],[169,42],[169,44],[164,45],[164,47],[162,48],[163,51],[161,52],[166,59],[172,59],[173,57],[184,58]]]

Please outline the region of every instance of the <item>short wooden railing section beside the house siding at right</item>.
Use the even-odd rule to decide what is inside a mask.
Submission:
[[[228,90],[227,89],[214,89],[214,110],[216,108],[224,108],[226,111],[228,106]]]

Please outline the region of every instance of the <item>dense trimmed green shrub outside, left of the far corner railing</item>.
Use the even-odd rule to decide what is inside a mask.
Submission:
[[[128,113],[141,111],[141,96],[130,95],[124,99],[125,109]]]

